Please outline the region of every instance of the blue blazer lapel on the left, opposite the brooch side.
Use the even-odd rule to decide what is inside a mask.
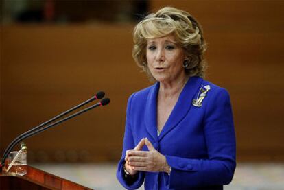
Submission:
[[[154,141],[158,141],[158,128],[157,128],[157,94],[160,84],[156,82],[150,89],[145,106],[145,126],[147,132],[152,136]]]

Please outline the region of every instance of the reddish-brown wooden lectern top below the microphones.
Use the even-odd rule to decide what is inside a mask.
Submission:
[[[75,182],[54,176],[40,169],[27,166],[27,174],[16,176],[14,174],[0,173],[0,189],[90,189]]]

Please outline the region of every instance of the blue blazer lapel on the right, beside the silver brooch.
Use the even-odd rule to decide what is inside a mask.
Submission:
[[[194,98],[194,95],[198,93],[202,81],[203,79],[199,77],[189,78],[189,81],[187,81],[187,84],[185,84],[185,87],[182,89],[180,97],[178,97],[178,102],[176,102],[174,109],[171,111],[171,115],[169,115],[161,134],[158,136],[159,141],[161,141],[163,136],[171,131],[187,115],[187,112],[191,108],[191,102]],[[154,107],[156,111],[156,104],[152,105],[152,107]]]

